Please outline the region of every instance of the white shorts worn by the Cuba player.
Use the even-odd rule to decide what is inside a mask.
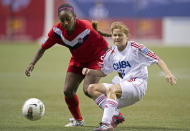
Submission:
[[[108,89],[113,84],[103,83]],[[118,102],[118,108],[132,105],[143,98],[147,89],[147,80],[136,78],[134,81],[120,81],[122,95]]]

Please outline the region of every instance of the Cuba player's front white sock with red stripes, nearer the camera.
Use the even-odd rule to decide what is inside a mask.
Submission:
[[[117,106],[118,106],[117,101],[115,101],[113,99],[107,99],[106,100],[104,113],[103,113],[103,117],[102,117],[103,123],[108,123],[108,124],[111,123],[112,117],[114,115],[114,112],[115,112]]]

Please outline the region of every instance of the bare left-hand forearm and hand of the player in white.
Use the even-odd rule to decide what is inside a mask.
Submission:
[[[104,77],[106,74],[102,72],[101,70],[94,70],[94,69],[89,69],[89,68],[83,68],[82,69],[82,74],[83,75],[93,75],[96,77]]]

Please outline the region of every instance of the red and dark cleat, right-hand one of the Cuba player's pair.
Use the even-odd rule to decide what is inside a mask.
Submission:
[[[120,113],[118,116],[112,117],[111,125],[113,128],[116,128],[120,123],[125,121],[125,117]]]

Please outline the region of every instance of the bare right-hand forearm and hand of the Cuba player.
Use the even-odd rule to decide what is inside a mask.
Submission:
[[[171,84],[171,85],[175,85],[176,84],[176,78],[175,76],[170,72],[170,70],[168,69],[167,65],[165,64],[165,62],[160,59],[158,61],[158,66],[162,69],[162,71],[165,73],[165,78],[166,80]]]

